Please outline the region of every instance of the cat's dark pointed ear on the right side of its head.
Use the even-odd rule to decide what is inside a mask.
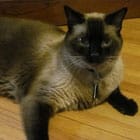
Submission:
[[[120,31],[122,27],[122,21],[127,13],[127,7],[124,7],[116,12],[108,14],[105,18],[107,24],[111,24],[116,26],[116,28]]]

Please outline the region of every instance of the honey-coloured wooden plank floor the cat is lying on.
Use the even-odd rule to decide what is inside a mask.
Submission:
[[[140,19],[124,22],[125,76],[122,91],[140,106]],[[50,122],[50,140],[139,140],[140,112],[128,117],[104,103],[81,112],[66,112]],[[0,140],[25,140],[19,106],[0,98]]]

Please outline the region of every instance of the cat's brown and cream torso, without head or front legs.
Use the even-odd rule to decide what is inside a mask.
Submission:
[[[68,52],[62,43],[65,33],[56,27],[9,18],[1,18],[0,24],[3,25],[0,26],[3,30],[0,32],[0,93],[3,95],[13,95],[20,102],[27,94],[41,92],[43,96],[46,94],[50,105],[56,102],[57,111],[84,109],[104,101],[121,82],[120,57],[113,64],[107,62],[108,67],[114,65],[113,70],[96,79],[94,72],[67,62],[70,61],[67,60]],[[102,71],[107,68],[106,63],[98,67]],[[93,89],[97,81],[99,98],[94,100]]]

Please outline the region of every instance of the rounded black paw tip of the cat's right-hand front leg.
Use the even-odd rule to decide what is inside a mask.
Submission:
[[[120,105],[119,111],[124,115],[134,116],[138,112],[138,105],[133,99],[128,99]]]

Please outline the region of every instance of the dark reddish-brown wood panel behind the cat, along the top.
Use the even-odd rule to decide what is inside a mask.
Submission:
[[[140,17],[139,0],[0,0],[0,16],[31,18],[64,25],[64,5],[81,12],[112,12],[128,7],[127,18]]]

